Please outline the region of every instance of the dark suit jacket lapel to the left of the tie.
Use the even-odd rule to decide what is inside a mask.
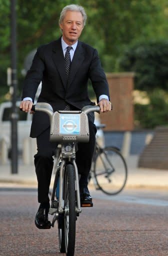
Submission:
[[[66,88],[66,74],[65,74],[65,67],[64,67],[64,56],[61,46],[60,38],[53,43],[52,48],[52,59],[56,65],[56,68],[60,74],[62,83],[64,88]]]

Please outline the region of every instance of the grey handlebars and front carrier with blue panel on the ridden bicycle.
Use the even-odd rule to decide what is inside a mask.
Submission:
[[[22,109],[20,108],[20,110]],[[89,112],[99,112],[100,107],[98,105],[86,105],[82,107],[81,110],[56,110],[53,112],[53,108],[49,103],[37,102],[35,105],[32,105],[31,111],[43,111],[48,114],[50,120],[50,141],[88,142],[89,127],[88,119],[86,118],[87,114]],[[59,120],[61,114],[79,114],[80,117],[77,117],[77,115],[75,116],[76,123],[74,123],[74,121],[71,119],[68,120],[69,123],[65,123],[67,120],[64,119],[64,116],[62,116],[61,121],[63,120],[64,123],[60,126],[59,124],[61,121],[57,120]],[[68,118],[72,117],[68,116]],[[74,127],[77,127],[75,132]]]

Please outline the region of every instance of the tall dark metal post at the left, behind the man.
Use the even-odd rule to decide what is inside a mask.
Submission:
[[[17,173],[17,108],[16,108],[16,0],[10,0],[11,8],[11,87],[12,87],[12,110],[11,110],[11,173]]]

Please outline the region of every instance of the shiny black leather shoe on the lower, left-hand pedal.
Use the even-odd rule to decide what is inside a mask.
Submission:
[[[39,229],[49,229],[51,223],[48,220],[48,210],[49,208],[42,208],[39,206],[38,211],[35,215],[35,225]]]

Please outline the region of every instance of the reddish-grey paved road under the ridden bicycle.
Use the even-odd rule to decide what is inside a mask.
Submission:
[[[165,190],[92,191],[93,208],[77,219],[75,256],[167,256],[168,196]],[[33,219],[36,189],[0,188],[0,256],[64,256],[56,225],[39,230]]]

